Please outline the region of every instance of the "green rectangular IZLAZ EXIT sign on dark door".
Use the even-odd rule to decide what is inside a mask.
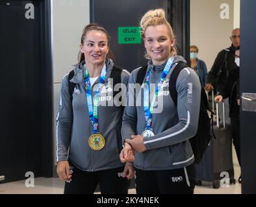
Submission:
[[[140,27],[118,27],[118,44],[140,44]]]

